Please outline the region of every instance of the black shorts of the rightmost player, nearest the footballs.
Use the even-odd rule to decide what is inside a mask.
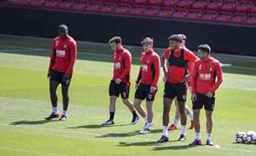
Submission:
[[[193,109],[204,108],[208,111],[212,111],[215,106],[215,95],[212,98],[208,98],[205,94],[197,93],[197,100],[193,102]]]

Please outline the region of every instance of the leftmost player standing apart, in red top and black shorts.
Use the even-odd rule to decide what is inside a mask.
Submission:
[[[58,97],[56,94],[59,84],[61,84],[63,100],[63,111],[59,120],[67,120],[67,111],[69,107],[69,84],[72,78],[76,58],[76,41],[69,36],[68,26],[60,25],[59,36],[54,38],[51,45],[48,78],[52,113],[46,118],[46,120],[59,118],[59,109],[57,105]]]

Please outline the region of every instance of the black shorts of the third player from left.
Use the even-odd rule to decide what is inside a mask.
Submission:
[[[135,91],[135,99],[146,99],[147,101],[154,101],[155,93],[150,92],[151,85],[140,84]]]

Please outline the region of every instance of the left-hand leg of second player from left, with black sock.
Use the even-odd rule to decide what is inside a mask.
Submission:
[[[112,80],[109,87],[109,96],[110,96],[110,104],[109,104],[109,112],[110,112],[110,118],[109,120],[106,120],[102,123],[102,125],[113,125],[114,124],[114,114],[115,114],[115,103],[116,99],[119,96],[119,90],[117,88],[117,85]]]

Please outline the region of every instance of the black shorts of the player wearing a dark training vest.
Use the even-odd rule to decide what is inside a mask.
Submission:
[[[170,82],[165,82],[164,98],[167,98],[167,99],[176,98],[177,101],[186,102],[187,84],[186,83],[173,84]]]

